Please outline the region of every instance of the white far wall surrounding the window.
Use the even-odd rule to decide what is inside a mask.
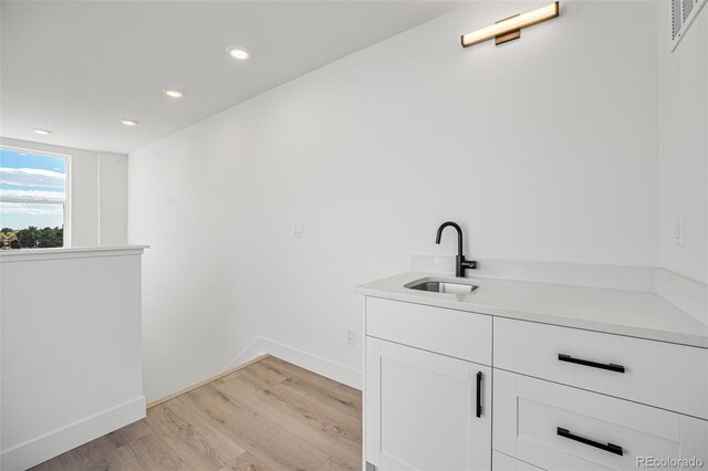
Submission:
[[[125,245],[127,156],[0,137],[0,144],[70,156],[70,244]]]

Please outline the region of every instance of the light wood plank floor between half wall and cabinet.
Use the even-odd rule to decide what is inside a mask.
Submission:
[[[271,356],[33,470],[361,470],[361,393]]]

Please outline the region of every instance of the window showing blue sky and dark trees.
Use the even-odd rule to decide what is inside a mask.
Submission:
[[[64,245],[66,156],[0,148],[2,249]]]

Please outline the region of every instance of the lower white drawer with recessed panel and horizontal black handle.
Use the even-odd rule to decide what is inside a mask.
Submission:
[[[502,370],[492,405],[492,447],[549,471],[636,470],[646,457],[708,462],[701,419]]]

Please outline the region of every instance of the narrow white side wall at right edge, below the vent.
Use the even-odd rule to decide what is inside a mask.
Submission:
[[[670,53],[669,2],[658,3],[662,266],[708,282],[708,11]],[[684,247],[674,243],[684,214]]]

